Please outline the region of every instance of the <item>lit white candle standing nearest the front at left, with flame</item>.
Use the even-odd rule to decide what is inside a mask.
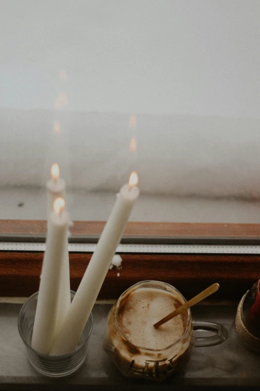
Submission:
[[[70,221],[64,206],[63,198],[54,201],[32,333],[32,348],[44,354],[49,354],[56,332],[59,282]]]

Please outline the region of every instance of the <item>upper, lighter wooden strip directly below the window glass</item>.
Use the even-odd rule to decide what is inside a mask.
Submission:
[[[73,238],[99,237],[104,221],[75,221],[71,227]],[[40,237],[46,234],[45,220],[0,220],[2,237]],[[124,238],[141,239],[212,239],[252,240],[260,242],[260,224],[225,223],[151,223],[128,222]]]

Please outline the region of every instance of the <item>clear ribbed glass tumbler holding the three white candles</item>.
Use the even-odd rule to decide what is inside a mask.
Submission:
[[[71,301],[74,296],[75,292],[71,291]],[[38,292],[26,300],[18,315],[18,331],[25,345],[28,360],[32,367],[42,375],[51,378],[71,375],[82,366],[86,359],[89,337],[93,326],[92,314],[90,314],[80,337],[78,347],[74,352],[62,356],[48,356],[35,351],[30,346],[37,299]]]

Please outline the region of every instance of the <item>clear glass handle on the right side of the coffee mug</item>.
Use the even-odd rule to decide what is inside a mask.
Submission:
[[[228,338],[227,329],[220,323],[193,321],[194,346],[214,346]]]

